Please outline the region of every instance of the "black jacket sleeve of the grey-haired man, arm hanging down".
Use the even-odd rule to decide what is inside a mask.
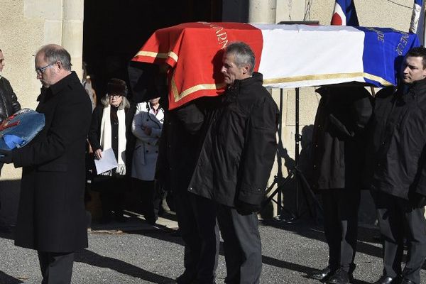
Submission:
[[[278,107],[271,97],[263,97],[253,106],[246,137],[237,185],[240,202],[261,204],[266,183],[271,174],[277,143]]]

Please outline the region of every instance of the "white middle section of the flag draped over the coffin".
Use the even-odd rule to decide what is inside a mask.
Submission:
[[[290,88],[365,82],[364,32],[348,26],[253,26],[263,35],[259,72],[265,86]]]

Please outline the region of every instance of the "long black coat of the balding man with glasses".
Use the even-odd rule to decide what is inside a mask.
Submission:
[[[92,104],[75,72],[42,88],[38,102],[43,130],[13,150],[15,167],[23,167],[15,244],[76,251],[87,247],[84,152]]]

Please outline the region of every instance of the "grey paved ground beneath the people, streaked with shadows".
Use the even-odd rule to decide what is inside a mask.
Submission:
[[[92,225],[89,248],[76,255],[72,283],[165,283],[182,272],[183,247],[173,236],[173,215],[150,226],[129,214],[124,224]],[[321,226],[310,222],[261,222],[262,283],[319,283],[306,274],[327,263],[327,245]],[[381,275],[381,245],[373,241],[376,229],[361,227],[354,283],[372,283]],[[0,284],[40,283],[36,253],[13,246],[11,233],[0,234]],[[221,251],[217,283],[225,277]],[[426,271],[422,271],[426,283]]]

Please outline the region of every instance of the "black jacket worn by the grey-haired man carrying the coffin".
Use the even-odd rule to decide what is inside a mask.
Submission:
[[[234,207],[261,204],[276,152],[278,107],[262,75],[235,80],[204,139],[189,191]]]

